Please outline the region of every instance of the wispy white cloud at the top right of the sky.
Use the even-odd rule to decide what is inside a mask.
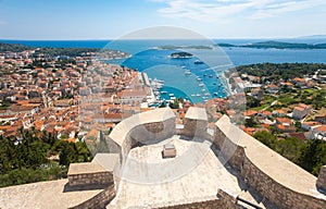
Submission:
[[[326,4],[325,0],[151,0],[166,3],[159,10],[163,16],[202,22],[227,20],[234,15],[266,19],[287,12]]]

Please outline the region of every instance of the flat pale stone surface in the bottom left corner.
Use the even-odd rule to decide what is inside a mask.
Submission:
[[[70,208],[96,196],[102,189],[70,189],[68,180],[40,182],[0,188],[1,209]]]

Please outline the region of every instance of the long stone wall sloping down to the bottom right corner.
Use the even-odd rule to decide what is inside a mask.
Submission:
[[[250,186],[279,208],[326,207],[315,176],[240,131],[227,116],[215,124],[214,145]]]

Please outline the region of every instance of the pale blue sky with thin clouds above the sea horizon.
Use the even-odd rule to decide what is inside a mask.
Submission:
[[[111,39],[152,26],[210,38],[326,34],[325,0],[0,0],[0,39]]]

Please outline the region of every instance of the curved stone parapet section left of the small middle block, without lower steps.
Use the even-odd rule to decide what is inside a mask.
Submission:
[[[175,118],[170,108],[159,108],[135,114],[118,123],[109,136],[109,146],[111,152],[120,153],[121,168],[129,150],[138,143],[159,143],[172,137],[175,134]]]

